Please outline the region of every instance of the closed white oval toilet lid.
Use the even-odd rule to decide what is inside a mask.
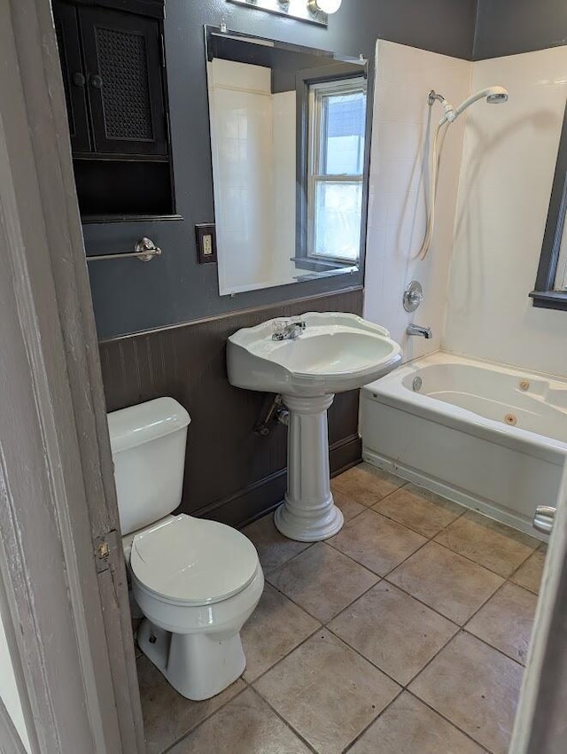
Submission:
[[[258,553],[236,529],[181,514],[136,534],[130,566],[151,592],[204,605],[241,592],[258,570]]]

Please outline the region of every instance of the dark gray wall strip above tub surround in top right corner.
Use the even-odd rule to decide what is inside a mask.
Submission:
[[[567,0],[478,0],[474,60],[567,44]]]

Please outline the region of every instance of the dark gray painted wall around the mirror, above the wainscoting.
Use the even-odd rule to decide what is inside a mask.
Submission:
[[[129,250],[151,237],[164,255],[97,261],[89,273],[100,338],[189,322],[246,307],[361,284],[361,273],[220,297],[215,265],[198,265],[197,222],[214,219],[204,24],[374,58],[377,37],[470,58],[476,0],[344,0],[328,28],[225,0],[167,0],[166,47],[177,211],[183,221],[85,226],[89,253]],[[112,190],[112,187],[109,187]]]

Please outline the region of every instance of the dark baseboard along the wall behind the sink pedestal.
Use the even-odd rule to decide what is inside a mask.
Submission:
[[[358,435],[338,440],[329,448],[331,477],[356,466],[361,460],[362,442]],[[191,516],[210,518],[237,528],[245,526],[276,509],[283,500],[286,485],[287,469],[282,469],[205,508],[192,511]]]

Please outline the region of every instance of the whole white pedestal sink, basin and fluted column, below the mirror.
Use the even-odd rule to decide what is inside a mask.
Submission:
[[[274,520],[291,540],[326,540],[343,525],[330,492],[327,409],[335,393],[397,366],[401,349],[389,336],[356,315],[312,312],[229,337],[230,384],[281,393],[290,411],[287,492]]]

